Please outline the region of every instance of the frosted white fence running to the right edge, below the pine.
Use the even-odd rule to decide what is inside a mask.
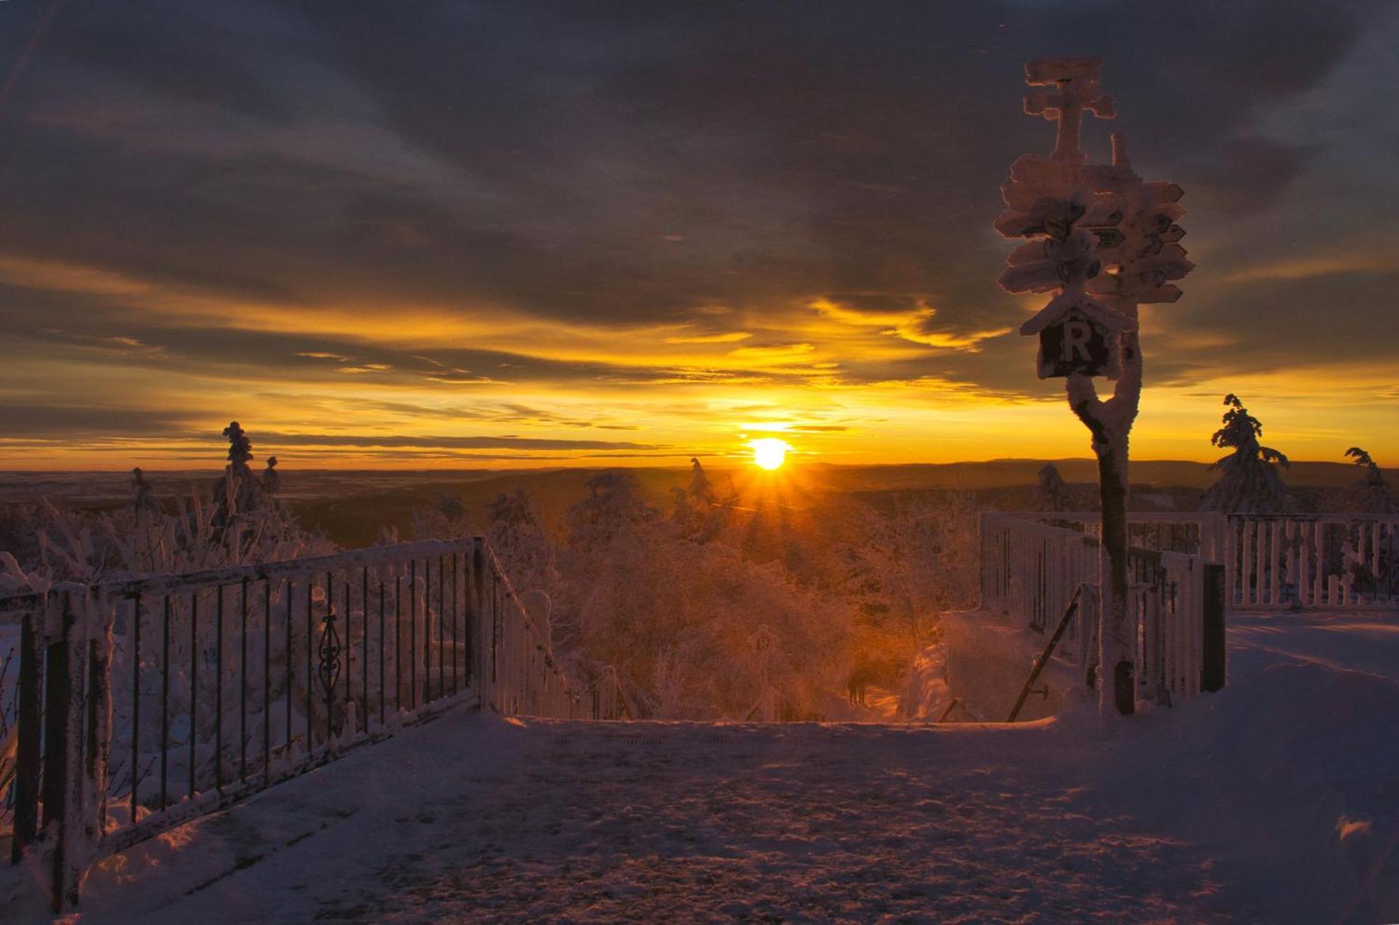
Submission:
[[[1097,535],[1097,513],[1024,513]],[[1399,608],[1399,517],[1379,514],[1129,514],[1133,545],[1226,569],[1235,609]]]

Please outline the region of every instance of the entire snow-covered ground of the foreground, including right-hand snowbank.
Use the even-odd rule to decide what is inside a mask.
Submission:
[[[109,859],[84,921],[1399,919],[1399,623],[1234,618],[1104,731],[450,715]]]

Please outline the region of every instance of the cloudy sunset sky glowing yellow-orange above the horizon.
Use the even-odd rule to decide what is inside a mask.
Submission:
[[[996,285],[1046,54],[1185,189],[1133,456],[1393,465],[1396,3],[6,0],[0,468],[1088,456]]]

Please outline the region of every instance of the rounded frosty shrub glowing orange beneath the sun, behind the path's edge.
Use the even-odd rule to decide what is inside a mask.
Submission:
[[[797,584],[782,562],[730,542],[695,542],[669,521],[637,521],[560,555],[555,639],[611,664],[651,715],[747,718],[764,689],[795,715],[824,711],[849,662],[853,608]],[[562,622],[561,622],[562,623]],[[771,643],[760,647],[758,625]]]

